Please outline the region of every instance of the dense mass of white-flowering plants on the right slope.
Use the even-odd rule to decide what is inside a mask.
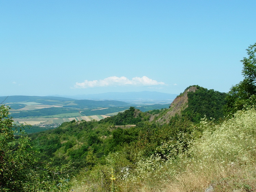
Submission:
[[[256,111],[239,111],[234,118],[206,129],[190,149],[201,161],[250,161],[256,152]]]

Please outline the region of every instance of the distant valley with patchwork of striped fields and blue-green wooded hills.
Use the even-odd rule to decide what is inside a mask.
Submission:
[[[142,95],[140,95],[140,97],[142,97]],[[0,97],[0,101],[4,101],[3,104],[11,108],[10,115],[13,117],[14,122],[18,125],[32,125],[34,131],[37,130],[34,126],[51,129],[56,128],[57,125],[60,125],[63,122],[72,120],[99,121],[106,117],[124,112],[129,109],[130,106],[139,108],[143,112],[147,110],[168,108],[170,105],[168,102],[171,101],[170,99],[153,100],[150,98],[149,100],[145,99],[144,104],[141,104],[140,100],[142,99],[132,99],[131,104],[115,100],[78,100],[55,96]],[[147,104],[145,104],[146,102]]]

